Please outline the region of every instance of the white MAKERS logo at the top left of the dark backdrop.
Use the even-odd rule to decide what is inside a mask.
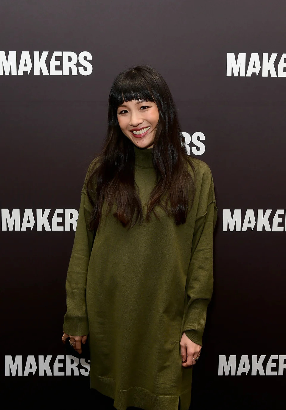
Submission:
[[[54,51],[49,62],[46,61],[48,51],[43,51],[41,56],[39,51],[31,54],[32,58],[29,51],[21,52],[17,69],[17,52],[9,51],[6,57],[5,51],[0,51],[0,75],[3,75],[3,72],[5,75],[23,75],[25,71],[30,74],[32,67],[34,75],[40,75],[40,72],[42,75],[78,75],[78,73],[90,75],[92,73],[92,64],[87,61],[92,60],[92,55],[88,51],[82,51],[79,55],[73,51]],[[56,68],[57,66],[61,67]]]

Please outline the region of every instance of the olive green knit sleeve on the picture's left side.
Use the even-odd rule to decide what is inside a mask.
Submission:
[[[87,228],[92,206],[87,197],[85,183],[91,166],[92,164],[81,191],[78,222],[66,276],[66,314],[63,330],[73,336],[89,334],[85,291],[94,231]]]

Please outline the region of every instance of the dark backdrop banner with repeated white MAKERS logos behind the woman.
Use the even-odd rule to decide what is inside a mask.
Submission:
[[[61,341],[80,191],[114,77],[150,64],[219,211],[190,408],[283,408],[285,19],[278,0],[1,1],[2,394],[88,393]]]

